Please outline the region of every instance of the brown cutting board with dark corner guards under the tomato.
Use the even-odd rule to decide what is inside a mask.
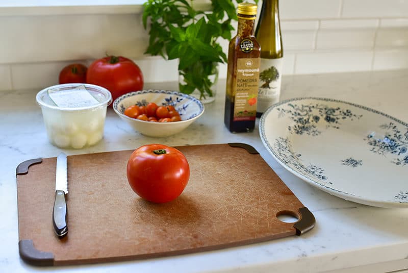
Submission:
[[[133,150],[68,156],[67,222],[53,229],[56,158],[16,170],[19,252],[34,265],[68,265],[163,257],[301,235],[315,218],[252,146],[176,147],[190,180],[176,200],[153,204],[126,178]],[[277,218],[298,218],[288,223]]]

